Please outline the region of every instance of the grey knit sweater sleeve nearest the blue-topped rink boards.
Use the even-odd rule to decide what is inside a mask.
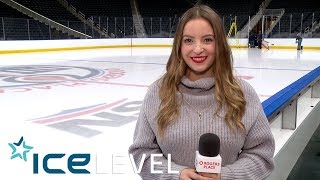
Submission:
[[[222,167],[221,179],[265,179],[274,169],[273,154],[275,142],[260,100],[253,88],[249,101],[257,104],[257,116],[247,131],[246,139],[239,154],[238,160],[233,164]]]

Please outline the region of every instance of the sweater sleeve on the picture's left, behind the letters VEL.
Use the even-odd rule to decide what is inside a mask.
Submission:
[[[154,97],[152,89],[148,91],[143,106],[140,110],[139,118],[136,124],[136,129],[133,137],[133,144],[129,147],[129,154],[133,155],[136,167],[139,167],[141,159],[145,155],[145,160],[142,165],[139,175],[143,180],[169,180],[179,179],[180,172],[185,169],[185,166],[180,166],[171,162],[171,167],[168,169],[167,155],[154,158],[156,165],[151,167],[151,154],[162,154],[162,151],[157,143],[155,132],[151,128],[150,119],[147,115],[150,108],[155,108],[152,103],[157,97]],[[161,164],[159,164],[161,162]],[[151,170],[162,171],[162,173],[152,173]],[[178,173],[168,173],[169,171],[177,171]]]

